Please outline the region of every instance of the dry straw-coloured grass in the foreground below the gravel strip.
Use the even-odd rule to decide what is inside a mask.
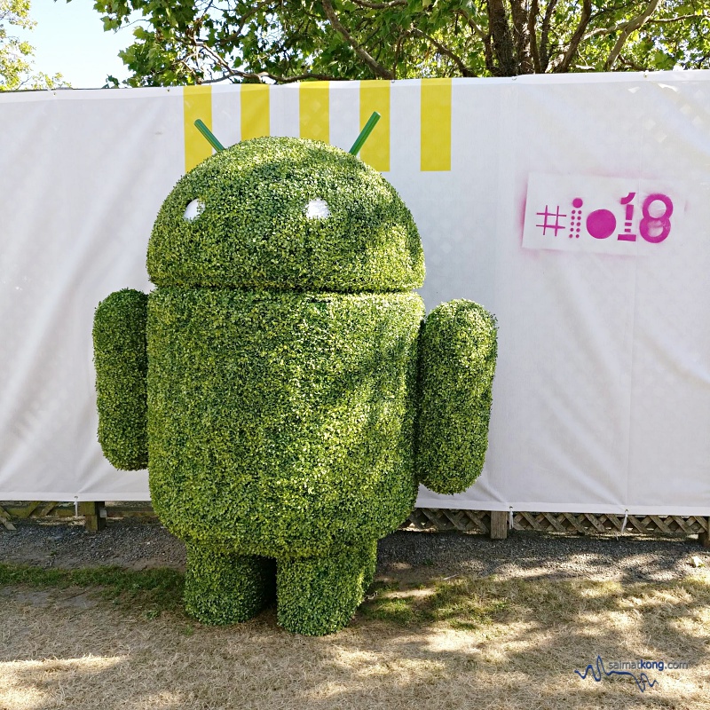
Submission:
[[[324,638],[282,632],[272,611],[201,627],[177,597],[130,594],[126,579],[108,596],[67,579],[5,580],[2,710],[710,708],[707,574],[630,585],[390,579],[351,627]],[[631,678],[574,675],[597,654],[690,668],[649,671],[657,684],[642,693]]]

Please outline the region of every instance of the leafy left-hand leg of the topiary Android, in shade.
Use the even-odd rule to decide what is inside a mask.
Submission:
[[[237,555],[193,542],[187,548],[185,611],[204,624],[235,624],[259,613],[275,596],[272,559]]]

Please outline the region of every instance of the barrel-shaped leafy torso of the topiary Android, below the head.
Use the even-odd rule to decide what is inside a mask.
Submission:
[[[414,504],[414,293],[158,288],[148,304],[151,494],[173,532],[315,554]],[[351,537],[348,533],[345,537]]]

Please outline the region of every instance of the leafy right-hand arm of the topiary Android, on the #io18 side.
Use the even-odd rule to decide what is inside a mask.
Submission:
[[[488,446],[495,319],[471,301],[441,304],[424,322],[419,349],[418,478],[435,493],[461,493]]]

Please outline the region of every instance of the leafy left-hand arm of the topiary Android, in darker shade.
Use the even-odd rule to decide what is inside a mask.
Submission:
[[[117,469],[148,465],[146,312],[148,296],[116,291],[94,315],[99,443]]]

